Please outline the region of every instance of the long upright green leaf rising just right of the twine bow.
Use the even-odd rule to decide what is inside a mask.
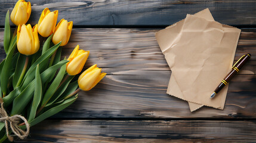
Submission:
[[[42,81],[41,81],[41,76],[40,76],[40,73],[39,73],[39,65],[38,65],[38,66],[36,66],[35,92],[34,92],[32,107],[30,109],[28,122],[35,119],[36,110],[37,110],[37,108],[40,104],[41,97],[42,97]]]

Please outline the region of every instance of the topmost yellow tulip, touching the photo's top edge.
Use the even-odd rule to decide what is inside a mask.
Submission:
[[[17,1],[13,11],[11,11],[11,21],[16,26],[27,23],[31,14],[31,4],[24,0]]]

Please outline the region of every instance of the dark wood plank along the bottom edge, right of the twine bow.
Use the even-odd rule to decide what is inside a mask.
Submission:
[[[27,142],[255,142],[256,122],[46,120]]]

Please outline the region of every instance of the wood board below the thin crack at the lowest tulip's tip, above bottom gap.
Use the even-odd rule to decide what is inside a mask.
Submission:
[[[224,110],[203,107],[190,113],[186,101],[166,94],[169,71],[124,71],[107,75],[54,118],[255,118],[255,75],[230,82]]]

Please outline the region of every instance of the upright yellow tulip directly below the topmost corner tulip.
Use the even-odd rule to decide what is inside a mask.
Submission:
[[[30,24],[19,25],[17,29],[17,48],[21,54],[32,55],[39,49],[38,24],[33,29]]]

